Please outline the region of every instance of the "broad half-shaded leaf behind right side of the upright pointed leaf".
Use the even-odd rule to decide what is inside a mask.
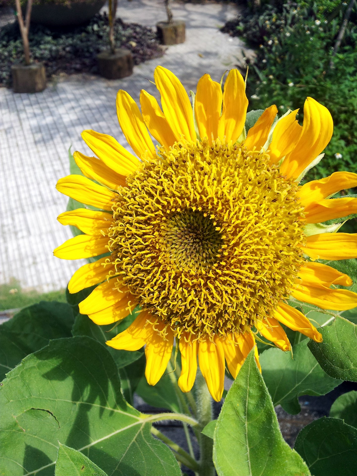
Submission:
[[[277,348],[265,350],[259,357],[262,376],[274,406],[280,404],[293,415],[301,410],[299,396],[325,395],[341,383],[318,365],[307,348],[308,340],[292,347],[293,357],[290,352]]]

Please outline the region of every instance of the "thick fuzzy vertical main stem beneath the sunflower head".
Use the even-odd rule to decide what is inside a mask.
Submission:
[[[196,377],[197,391],[197,418],[201,431],[212,420],[212,397],[209,394],[206,381],[198,370]],[[198,443],[200,449],[199,476],[214,476],[213,466],[213,440],[202,433],[199,433]]]

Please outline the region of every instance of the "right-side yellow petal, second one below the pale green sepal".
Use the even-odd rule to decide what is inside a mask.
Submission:
[[[329,288],[331,284],[341,286],[351,286],[352,279],[347,274],[340,273],[335,268],[322,263],[305,262],[299,270],[298,277],[302,279],[302,284],[315,286],[317,288]]]

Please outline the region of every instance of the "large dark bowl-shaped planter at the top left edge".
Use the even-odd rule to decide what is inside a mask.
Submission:
[[[79,3],[69,1],[66,5],[33,5],[31,23],[49,27],[77,26],[93,18],[104,3],[105,0],[88,0]]]

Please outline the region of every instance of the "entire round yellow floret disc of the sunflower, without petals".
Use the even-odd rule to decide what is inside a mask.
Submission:
[[[160,148],[113,206],[118,286],[178,337],[244,332],[295,286],[304,242],[296,192],[268,154],[244,146]]]

